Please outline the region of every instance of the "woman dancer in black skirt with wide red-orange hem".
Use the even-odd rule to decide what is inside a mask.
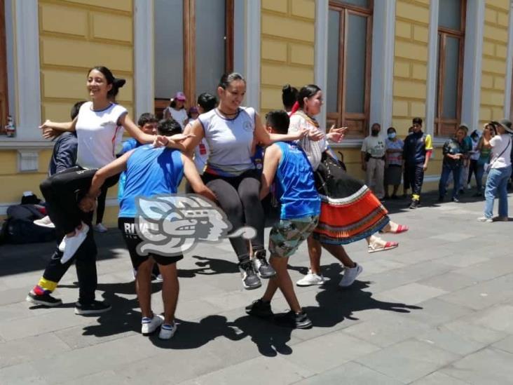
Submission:
[[[322,106],[322,91],[310,84],[299,90],[296,111],[290,120],[289,133],[306,129],[321,133],[319,123],[313,116],[319,114]],[[341,168],[327,145],[327,140],[339,142],[346,128],[331,128],[323,140],[311,141],[308,137],[299,140],[305,150],[315,175],[315,184],[321,197],[321,214],[317,229],[308,238],[310,269],[308,274],[296,282],[299,286],[322,285],[324,277],[320,273],[321,245],[334,255],[343,266],[344,275],[339,283],[347,287],[362,272],[362,266],[353,262],[343,244],[367,238],[369,252],[397,248],[396,242],[385,242],[373,237],[377,231],[400,233],[407,228],[390,224],[387,210],[369,188],[360,181],[349,177]]]

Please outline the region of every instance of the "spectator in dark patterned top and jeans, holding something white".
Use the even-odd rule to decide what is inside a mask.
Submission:
[[[453,202],[459,202],[458,200],[458,191],[460,191],[460,173],[463,165],[463,158],[465,151],[465,144],[463,144],[463,140],[465,138],[466,132],[463,127],[460,126],[454,137],[447,140],[444,144],[443,154],[444,161],[442,163],[442,175],[440,177],[440,182],[438,185],[438,201],[443,202],[444,196],[447,190],[447,179],[449,178],[449,174],[453,174],[454,180],[454,188],[453,188]]]

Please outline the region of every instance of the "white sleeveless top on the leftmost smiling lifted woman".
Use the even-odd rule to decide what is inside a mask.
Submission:
[[[123,126],[119,119],[127,113],[125,107],[111,103],[106,109],[93,111],[93,102],[82,104],[76,121],[78,150],[76,164],[82,168],[102,168],[116,159],[121,145]]]

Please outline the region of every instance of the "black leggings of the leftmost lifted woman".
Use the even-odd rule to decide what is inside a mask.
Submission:
[[[71,167],[48,177],[39,186],[47,204],[48,216],[55,227],[65,234],[73,232],[81,224],[84,213],[78,208],[78,200],[87,193],[96,171],[80,166]],[[119,175],[107,179],[102,191],[114,186],[118,179]]]

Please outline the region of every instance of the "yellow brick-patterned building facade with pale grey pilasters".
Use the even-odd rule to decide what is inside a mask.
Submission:
[[[90,67],[105,65],[127,79],[118,102],[132,116],[153,110],[153,53],[159,49],[153,13],[158,1],[4,0],[9,111],[18,135],[0,135],[0,217],[8,205],[20,201],[23,191],[41,196],[39,183],[46,177],[52,143],[41,139],[37,126],[45,119],[69,119],[71,105],[87,98]],[[192,0],[183,1],[190,6]],[[358,177],[363,178],[360,147],[369,124],[394,126],[404,136],[411,119],[419,116],[435,142],[424,189],[436,187],[446,140],[436,128],[443,118],[437,104],[437,83],[444,79],[439,73],[440,34],[450,32],[463,41],[456,85],[458,123],[473,130],[512,112],[510,0],[461,1],[462,24],[453,35],[443,25],[444,13],[440,19],[446,6],[443,0],[233,0],[230,4],[233,68],[247,77],[247,104],[262,114],[282,107],[285,83],[297,88],[316,83],[325,90],[327,104],[319,120],[326,126],[338,108],[330,107],[327,98],[341,92],[346,100],[360,95],[360,90],[350,88],[360,81],[366,90],[362,111],[348,114],[353,107],[342,106],[337,119],[345,123],[347,118],[348,124],[360,119],[363,131],[355,128],[347,140],[334,145],[343,152],[348,171]],[[339,34],[336,39],[334,33]],[[360,38],[364,46],[350,45]],[[367,71],[362,79],[360,72],[355,79],[343,77],[358,67],[350,60],[359,55]],[[107,201],[110,225],[117,212],[114,190]]]

